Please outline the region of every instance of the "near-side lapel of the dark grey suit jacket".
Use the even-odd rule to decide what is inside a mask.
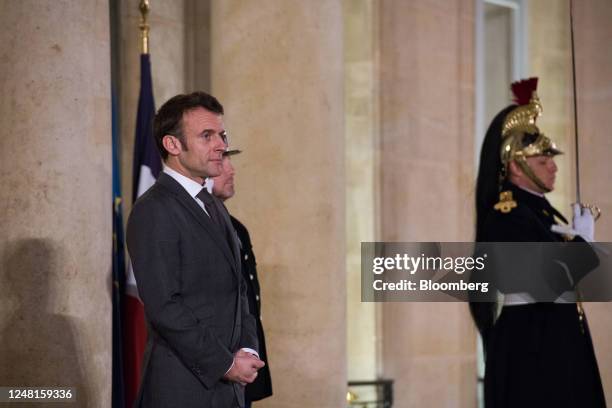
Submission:
[[[202,210],[202,208],[196,203],[196,201],[187,193],[187,191],[172,177],[166,173],[161,173],[157,179],[164,188],[170,190],[176,197],[177,201],[187,209],[198,221],[202,228],[213,238],[215,245],[219,247],[223,255],[227,258],[234,273],[239,273],[236,257],[230,249],[227,239],[225,238],[224,232],[220,231],[219,228],[213,223],[208,215]],[[225,217],[224,217],[225,218]]]

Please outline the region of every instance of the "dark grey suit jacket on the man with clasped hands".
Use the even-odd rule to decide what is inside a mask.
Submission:
[[[162,173],[130,214],[127,245],[149,329],[138,407],[244,405],[243,387],[222,377],[237,350],[257,350],[257,334],[236,233],[216,204],[225,231]]]

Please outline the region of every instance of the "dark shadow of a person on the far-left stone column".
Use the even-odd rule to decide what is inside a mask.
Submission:
[[[53,291],[66,279],[60,269],[64,265],[62,252],[61,247],[43,239],[11,242],[4,248],[0,271],[0,384],[75,387],[77,405],[85,407],[90,405],[89,387],[79,362],[76,320],[54,313],[65,304]],[[75,406],[74,402],[67,404]]]

